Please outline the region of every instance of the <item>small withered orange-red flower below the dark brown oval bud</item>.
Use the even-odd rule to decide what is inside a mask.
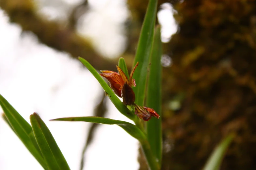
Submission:
[[[146,106],[138,106],[136,104],[133,105],[135,107],[135,114],[141,119],[145,120],[145,121],[149,121],[151,119],[151,117],[156,117],[157,119],[159,119],[159,115],[155,112],[154,109],[146,107]]]

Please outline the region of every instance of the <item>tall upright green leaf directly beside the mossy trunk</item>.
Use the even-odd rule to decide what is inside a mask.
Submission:
[[[147,122],[147,138],[153,155],[161,165],[162,158],[162,124],[161,124],[161,79],[162,79],[162,42],[160,26],[156,27],[151,53],[151,67],[148,80],[147,107],[153,108],[160,118],[152,118]]]

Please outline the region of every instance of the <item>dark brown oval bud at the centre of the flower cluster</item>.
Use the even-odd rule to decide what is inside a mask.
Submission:
[[[133,105],[135,101],[135,94],[133,92],[133,89],[127,84],[124,83],[121,95],[123,98],[123,104],[125,105]]]

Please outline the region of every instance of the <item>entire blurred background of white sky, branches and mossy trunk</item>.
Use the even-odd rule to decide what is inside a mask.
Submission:
[[[146,169],[137,141],[120,127],[48,120],[129,121],[77,57],[113,71],[124,57],[130,69],[147,4],[0,0],[0,94],[27,121],[33,112],[41,116],[72,170],[80,169],[82,155],[83,169]],[[221,169],[256,169],[256,1],[159,0],[157,23],[162,169],[201,169],[231,132],[236,137]],[[0,169],[42,169],[2,119]]]

